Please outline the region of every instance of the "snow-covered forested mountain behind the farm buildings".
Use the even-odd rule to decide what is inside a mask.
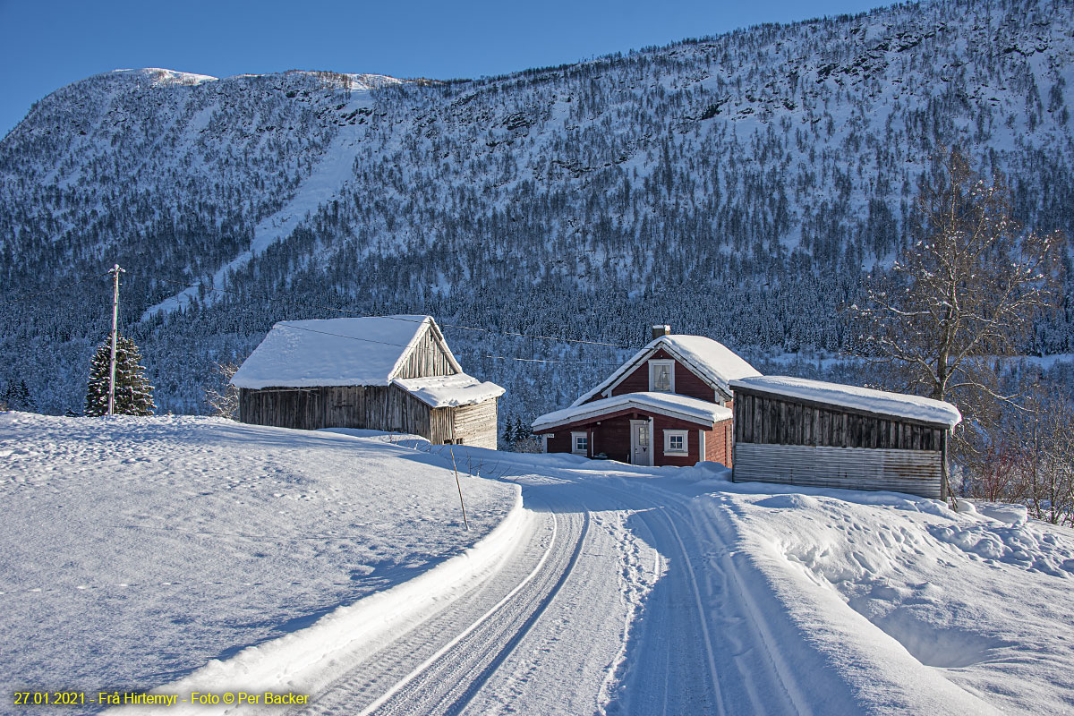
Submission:
[[[333,309],[433,313],[508,386],[505,415],[564,405],[622,351],[498,331],[837,351],[838,307],[906,242],[942,145],[1074,233],[1072,59],[1064,2],[949,0],[478,81],[90,77],[0,143],[0,340],[26,355],[0,380],[77,407],[113,263],[174,410],[212,360]],[[1064,316],[1026,350],[1071,339]]]

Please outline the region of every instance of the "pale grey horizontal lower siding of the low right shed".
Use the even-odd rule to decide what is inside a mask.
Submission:
[[[738,442],[735,482],[889,489],[943,499],[939,450]]]

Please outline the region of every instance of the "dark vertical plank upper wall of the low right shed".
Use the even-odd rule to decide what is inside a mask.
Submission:
[[[735,391],[735,441],[939,451],[944,428],[838,406]]]

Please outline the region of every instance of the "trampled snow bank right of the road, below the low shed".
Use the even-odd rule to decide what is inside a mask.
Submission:
[[[1074,704],[1074,532],[895,494],[755,487],[696,509],[734,526],[753,598],[783,643],[811,647],[799,668],[837,670],[862,712]]]

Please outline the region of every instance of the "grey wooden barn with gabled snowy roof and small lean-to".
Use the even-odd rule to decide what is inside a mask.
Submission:
[[[504,389],[463,372],[430,316],[282,321],[231,382],[244,423],[496,448]]]

